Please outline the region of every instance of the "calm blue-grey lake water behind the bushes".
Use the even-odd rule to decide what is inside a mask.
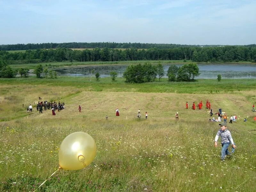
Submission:
[[[122,77],[128,65],[94,65],[94,66],[75,66],[54,68],[59,76],[91,76],[90,71],[94,69],[93,76],[96,72],[100,73],[100,77],[110,76],[111,71],[116,71],[118,77]],[[164,77],[170,64],[163,64]],[[176,64],[180,67],[182,64]],[[200,76],[196,79],[216,79],[218,74],[221,74],[223,79],[252,79],[256,78],[256,64],[245,63],[211,63],[198,64]]]

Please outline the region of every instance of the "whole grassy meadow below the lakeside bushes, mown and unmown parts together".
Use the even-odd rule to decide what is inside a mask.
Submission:
[[[77,131],[94,138],[94,161],[82,170],[60,170],[37,191],[255,191],[256,131],[249,138],[256,125],[255,87],[254,79],[145,84],[125,84],[123,78],[0,79],[0,191],[35,190],[58,169],[62,140]],[[39,96],[60,99],[66,108],[56,116],[51,110],[39,114]],[[238,117],[228,124],[237,148],[225,162],[220,143],[214,148],[219,125],[208,120],[207,99],[213,112],[221,107]],[[200,100],[203,110],[190,109]]]

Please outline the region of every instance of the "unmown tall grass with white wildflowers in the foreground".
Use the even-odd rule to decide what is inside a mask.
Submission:
[[[253,191],[255,142],[230,128],[235,155],[220,162],[217,124],[150,119],[19,120],[1,125],[1,191],[31,191],[58,167],[58,147],[70,133],[96,141],[97,156],[83,170],[61,170],[39,191]],[[3,150],[4,149],[4,150]]]

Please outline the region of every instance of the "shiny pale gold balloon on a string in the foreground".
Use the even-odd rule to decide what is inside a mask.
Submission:
[[[96,143],[85,132],[74,132],[61,143],[59,150],[60,168],[79,170],[92,163],[96,156]]]

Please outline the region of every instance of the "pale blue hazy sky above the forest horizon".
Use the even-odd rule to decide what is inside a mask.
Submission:
[[[0,0],[0,44],[256,44],[255,0]]]

